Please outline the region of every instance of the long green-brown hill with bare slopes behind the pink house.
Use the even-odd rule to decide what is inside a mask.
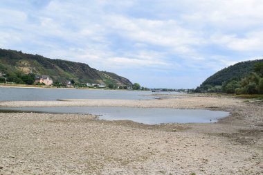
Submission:
[[[49,75],[58,82],[74,80],[80,83],[132,85],[125,77],[120,77],[115,73],[98,71],[84,63],[49,59],[41,55],[26,54],[16,50],[0,49],[0,73]]]

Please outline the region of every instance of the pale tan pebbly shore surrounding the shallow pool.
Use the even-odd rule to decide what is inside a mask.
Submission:
[[[163,100],[0,102],[0,107],[169,107],[231,115],[210,124],[142,125],[94,116],[0,113],[0,174],[263,174],[263,102]]]

